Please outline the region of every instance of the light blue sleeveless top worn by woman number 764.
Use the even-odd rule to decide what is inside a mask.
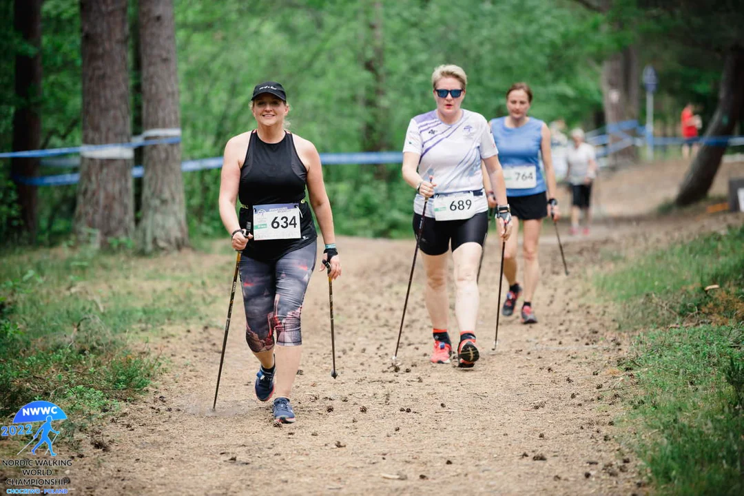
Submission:
[[[491,119],[491,133],[498,148],[498,161],[504,168],[533,165],[536,171],[536,185],[530,188],[507,188],[507,196],[529,196],[544,193],[545,174],[540,167],[540,144],[542,142],[542,120],[530,117],[524,126],[509,128],[506,117]]]

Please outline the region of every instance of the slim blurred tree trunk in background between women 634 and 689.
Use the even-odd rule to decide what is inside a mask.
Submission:
[[[369,74],[370,82],[365,86],[363,106],[366,109],[362,124],[362,150],[382,152],[388,149],[388,108],[385,104],[385,42],[382,31],[382,0],[366,0],[363,22],[370,42],[362,43],[364,57],[362,65]],[[367,40],[365,40],[367,41]],[[376,175],[387,179],[384,164],[377,164]]]

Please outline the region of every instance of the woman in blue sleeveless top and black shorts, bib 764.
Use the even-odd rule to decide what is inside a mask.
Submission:
[[[542,219],[548,216],[548,207],[551,217],[559,219],[555,199],[556,177],[551,158],[551,132],[542,120],[527,116],[531,104],[530,87],[525,83],[515,83],[507,91],[509,115],[490,121],[501,166],[504,167],[509,206],[512,215],[518,219],[514,223],[516,232],[519,232],[519,221],[522,221],[522,254],[525,258],[522,323],[537,322],[532,309],[532,298],[540,279],[537,245]],[[544,171],[540,167],[541,154]],[[546,190],[548,196],[545,196]],[[516,278],[516,248],[517,236],[512,236],[507,241],[504,253],[504,277],[509,282],[509,292],[501,313],[507,316],[513,314],[516,300],[522,294],[522,286]]]

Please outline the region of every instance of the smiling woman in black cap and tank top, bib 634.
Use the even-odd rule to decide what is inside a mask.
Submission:
[[[302,350],[300,314],[315,268],[317,237],[306,186],[325,242],[323,263],[333,279],[341,275],[341,262],[320,155],[310,141],[284,129],[289,112],[284,88],[272,81],[257,85],[251,112],[257,129],[231,138],[225,146],[219,216],[232,247],[243,254],[246,341],[260,361],[256,396],[266,402],[276,393],[275,422],[291,423],[295,413],[289,396]]]

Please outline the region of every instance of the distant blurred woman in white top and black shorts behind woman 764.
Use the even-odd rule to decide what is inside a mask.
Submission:
[[[591,222],[591,183],[597,177],[597,155],[594,146],[584,142],[583,129],[571,131],[573,146],[568,146],[568,182],[571,183],[571,234],[579,232],[579,216],[584,213],[584,234],[589,234]]]

